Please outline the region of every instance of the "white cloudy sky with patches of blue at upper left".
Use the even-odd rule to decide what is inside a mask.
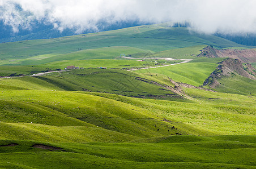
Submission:
[[[256,0],[0,0],[0,20],[30,29],[33,22],[62,31],[97,31],[99,22],[121,21],[191,24],[204,33],[256,33]]]

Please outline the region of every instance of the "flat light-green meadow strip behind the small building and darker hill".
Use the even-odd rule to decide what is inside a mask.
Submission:
[[[24,59],[25,60],[25,59]],[[46,64],[33,63],[33,61],[29,62],[32,65],[23,65],[23,61],[1,65],[0,66],[0,75],[3,77],[6,76],[22,76],[22,75],[32,75],[36,73],[42,72],[50,72],[56,70],[65,70],[65,68],[69,65],[75,65],[79,68],[114,68],[114,69],[133,69],[133,68],[145,68],[147,66],[161,66],[168,65],[174,63],[181,63],[183,60],[164,60],[158,59],[157,63],[155,63],[155,59],[144,59],[143,61],[139,59],[90,59],[90,60],[59,60]],[[27,62],[24,61],[24,62]],[[43,62],[45,63],[45,61]],[[39,65],[35,65],[39,64]]]

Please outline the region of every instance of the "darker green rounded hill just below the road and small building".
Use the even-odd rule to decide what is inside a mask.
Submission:
[[[71,72],[50,73],[39,77],[2,79],[0,88],[92,91],[133,97],[177,96],[164,87],[163,80],[159,81],[157,78],[153,78],[153,75],[143,77],[125,70],[80,69]],[[167,84],[172,85],[171,82]]]

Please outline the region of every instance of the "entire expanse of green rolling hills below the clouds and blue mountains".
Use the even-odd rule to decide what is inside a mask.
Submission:
[[[165,24],[1,43],[0,168],[255,168],[255,49]]]

